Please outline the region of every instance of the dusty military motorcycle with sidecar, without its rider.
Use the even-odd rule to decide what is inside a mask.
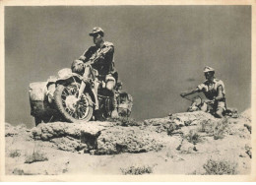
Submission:
[[[58,78],[50,78],[47,83],[30,85],[30,101],[35,126],[40,122],[68,121],[87,122],[92,119],[103,121],[111,115],[113,98],[117,101],[119,116],[129,117],[133,105],[132,96],[120,92],[120,83],[115,87],[115,97],[99,81],[94,61],[81,63],[82,74],[62,69]]]

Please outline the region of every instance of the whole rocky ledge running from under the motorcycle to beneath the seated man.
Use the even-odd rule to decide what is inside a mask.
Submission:
[[[48,141],[56,149],[67,152],[147,153],[160,151],[166,146],[164,141],[170,137],[176,137],[178,141],[175,149],[186,151],[186,148],[190,148],[196,151],[194,145],[202,137],[219,140],[235,135],[250,139],[250,120],[248,116],[244,116],[245,114],[239,118],[218,119],[206,112],[184,112],[148,119],[139,124],[127,120],[42,123],[32,128],[30,136],[33,140]],[[6,137],[18,135],[20,132],[26,132],[26,127],[6,124]]]

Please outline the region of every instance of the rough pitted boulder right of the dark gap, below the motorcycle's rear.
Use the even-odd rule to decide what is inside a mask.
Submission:
[[[113,127],[101,132],[96,154],[146,153],[162,148],[160,135],[138,127]]]

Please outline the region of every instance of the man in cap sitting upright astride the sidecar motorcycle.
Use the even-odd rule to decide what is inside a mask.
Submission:
[[[111,117],[118,117],[117,102],[115,97],[115,85],[117,82],[118,74],[114,69],[114,45],[111,42],[104,41],[104,31],[98,27],[94,28],[90,36],[93,36],[95,45],[87,49],[79,60],[84,63],[88,61],[94,61],[92,67],[98,72],[98,80],[102,81],[103,87],[105,87],[111,96],[113,97],[114,110],[111,113]],[[81,73],[82,68],[79,66],[78,60],[75,60],[72,64],[72,72]]]

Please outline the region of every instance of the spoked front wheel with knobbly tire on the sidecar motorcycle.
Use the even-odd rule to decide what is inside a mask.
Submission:
[[[78,101],[79,105],[74,101],[79,87],[79,84],[74,83],[67,87],[59,85],[54,92],[56,108],[68,122],[89,121],[93,117],[93,101],[89,93],[83,93],[81,100]]]

